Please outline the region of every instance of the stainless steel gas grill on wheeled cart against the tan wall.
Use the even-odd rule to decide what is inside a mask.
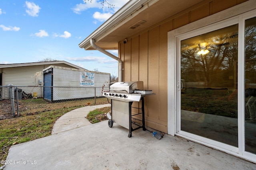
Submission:
[[[145,113],[144,113],[144,97],[148,95],[154,95],[152,90],[143,90],[143,82],[116,82],[110,86],[110,91],[104,92],[102,94],[106,98],[111,99],[111,111],[112,116],[111,120],[108,121],[108,126],[112,127],[113,122],[129,129],[128,137],[132,137],[132,131],[142,128],[146,131],[145,128]],[[133,118],[132,115],[132,103],[142,101],[142,107],[134,107],[141,109],[142,120]],[[138,125],[132,119],[137,121],[142,121],[142,126]],[[132,123],[136,125],[136,128],[132,127]]]

